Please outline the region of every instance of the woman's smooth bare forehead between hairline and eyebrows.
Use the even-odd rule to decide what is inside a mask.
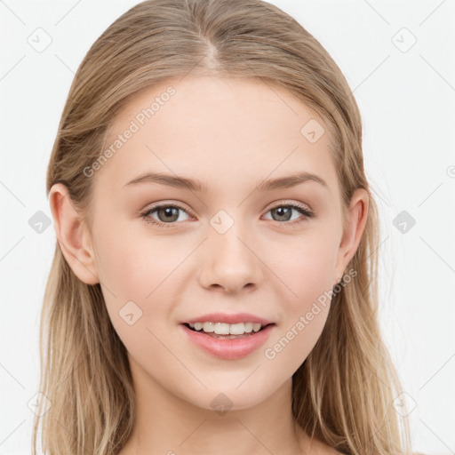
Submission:
[[[298,171],[318,173],[332,185],[328,144],[323,120],[280,87],[173,78],[141,90],[116,116],[105,146],[114,153],[100,178],[106,174],[106,183],[120,188],[141,173],[166,172],[215,188]]]

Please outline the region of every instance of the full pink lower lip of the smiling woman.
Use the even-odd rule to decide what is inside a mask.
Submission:
[[[239,339],[220,339],[213,338],[204,334],[203,331],[192,331],[184,324],[180,327],[185,332],[188,339],[193,341],[196,346],[205,352],[212,354],[220,359],[236,360],[250,355],[253,351],[263,345],[273,330],[275,324],[269,324],[261,331],[251,332],[252,335]]]

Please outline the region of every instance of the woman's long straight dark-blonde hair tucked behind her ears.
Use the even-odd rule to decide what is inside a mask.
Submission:
[[[361,116],[337,64],[291,16],[260,0],[148,0],[125,12],[77,70],[52,148],[47,195],[54,183],[65,184],[88,220],[93,179],[83,170],[104,150],[116,114],[141,89],[189,72],[291,92],[329,128],[344,209],[356,188],[367,190],[366,227],[348,265],[355,279],[333,295],[321,337],[292,376],[292,411],[308,435],[346,454],[411,453],[409,424],[394,409],[402,389],[379,331],[379,220],[363,170]],[[42,416],[34,422],[33,453],[42,435],[45,454],[116,454],[135,412],[126,349],[100,284],[81,282],[58,243],[40,348]]]

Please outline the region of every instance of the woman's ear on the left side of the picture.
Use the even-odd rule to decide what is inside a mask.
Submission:
[[[84,283],[100,283],[92,238],[81,215],[76,212],[68,188],[56,183],[49,192],[55,235],[69,267]]]

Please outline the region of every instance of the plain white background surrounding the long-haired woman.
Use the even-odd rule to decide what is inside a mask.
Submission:
[[[0,454],[30,453],[55,235],[28,220],[37,211],[51,218],[45,171],[61,111],[92,43],[137,3],[0,1]],[[455,3],[271,3],[323,44],[354,90],[381,212],[381,323],[414,406],[414,450],[455,453]],[[43,52],[28,44],[36,28],[52,37]],[[403,52],[410,33],[417,41]],[[393,224],[402,211],[416,221],[405,233]]]

